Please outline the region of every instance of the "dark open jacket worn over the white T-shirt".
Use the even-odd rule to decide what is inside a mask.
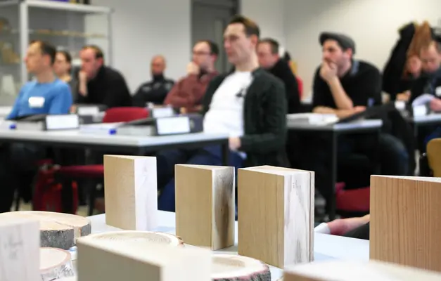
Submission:
[[[217,88],[228,74],[221,74],[210,82],[203,98],[203,115]],[[247,154],[245,166],[289,166],[286,158],[286,94],[279,79],[262,68],[253,72],[253,83],[243,103],[241,148]]]

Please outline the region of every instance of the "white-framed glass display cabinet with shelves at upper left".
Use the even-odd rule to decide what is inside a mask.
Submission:
[[[112,65],[111,8],[71,2],[0,0],[0,105],[12,105],[20,87],[32,79],[23,58],[33,40],[69,51],[73,68],[87,44],[102,48],[106,65]]]

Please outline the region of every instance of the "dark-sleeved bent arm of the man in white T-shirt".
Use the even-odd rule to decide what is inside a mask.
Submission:
[[[264,111],[265,133],[245,134],[241,137],[243,152],[267,153],[280,150],[286,143],[286,102],[285,86],[281,81],[274,81],[268,89]],[[258,105],[262,106],[262,105]]]

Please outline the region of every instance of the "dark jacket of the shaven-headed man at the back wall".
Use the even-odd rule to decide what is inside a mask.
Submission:
[[[153,77],[152,81],[141,84],[133,96],[133,105],[145,107],[147,103],[162,105],[167,93],[172,89],[174,81],[163,75]]]

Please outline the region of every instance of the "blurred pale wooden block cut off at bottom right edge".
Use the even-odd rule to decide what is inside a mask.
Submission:
[[[283,281],[439,281],[433,271],[379,261],[326,261],[306,263],[285,269]]]

